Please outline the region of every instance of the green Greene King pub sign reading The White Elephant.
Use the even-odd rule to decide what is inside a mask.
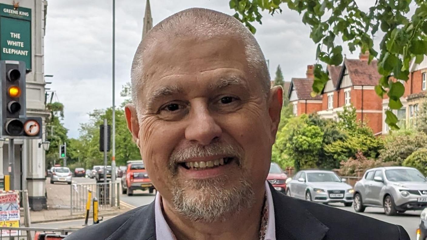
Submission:
[[[0,60],[25,61],[31,70],[31,9],[0,4]]]

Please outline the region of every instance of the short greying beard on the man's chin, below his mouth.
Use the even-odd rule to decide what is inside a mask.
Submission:
[[[172,203],[180,214],[197,222],[224,221],[231,214],[244,208],[251,208],[254,202],[252,186],[242,174],[239,182],[231,189],[225,189],[227,176],[215,179],[187,180],[185,187],[174,184]],[[194,196],[188,196],[191,189]]]

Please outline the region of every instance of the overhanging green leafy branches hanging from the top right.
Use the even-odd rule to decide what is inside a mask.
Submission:
[[[230,0],[230,9],[234,9],[235,18],[245,23],[252,33],[256,32],[252,22],[262,24],[260,11],[266,10],[274,15],[282,12],[282,7],[302,15],[302,22],[310,26],[310,38],[317,44],[316,61],[339,65],[342,63],[342,45],[347,44],[351,53],[360,47],[369,53],[369,62],[378,57],[378,79],[375,91],[378,96],[389,96],[389,108],[386,111],[386,123],[392,129],[398,129],[398,118],[392,109],[400,109],[400,97],[404,94],[401,82],[389,81],[389,76],[407,81],[409,62],[415,59],[421,63],[427,53],[427,1],[376,0],[367,12],[357,6],[356,0]],[[410,6],[415,8],[409,14]],[[407,17],[408,15],[408,17]],[[378,30],[384,32],[380,41],[380,54],[374,50],[374,36]],[[313,95],[319,94],[328,81],[328,74],[321,64],[315,65]]]

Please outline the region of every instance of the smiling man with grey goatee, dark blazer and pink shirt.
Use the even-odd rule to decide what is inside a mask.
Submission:
[[[266,182],[282,88],[231,16],[187,9],[158,23],[132,64],[126,120],[155,201],[84,228],[83,240],[409,240],[401,226],[297,200]]]

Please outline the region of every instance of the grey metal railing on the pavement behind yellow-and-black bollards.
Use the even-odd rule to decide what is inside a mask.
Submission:
[[[70,211],[81,213],[86,212],[86,205],[89,197],[89,190],[92,191],[92,198],[96,197],[99,203],[98,210],[111,210],[112,208],[120,208],[120,194],[116,194],[116,198],[112,198],[111,190],[115,187],[116,193],[120,193],[120,182],[107,182],[95,184],[71,184],[70,185]],[[92,201],[92,199],[91,199]]]

